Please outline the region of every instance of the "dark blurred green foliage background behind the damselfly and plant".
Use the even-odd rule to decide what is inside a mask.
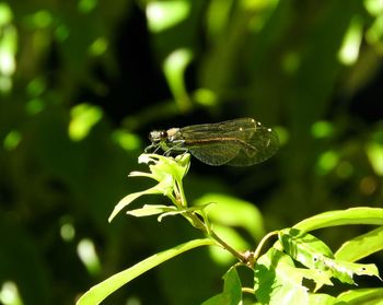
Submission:
[[[315,213],[383,207],[382,56],[379,0],[0,1],[0,303],[73,304],[200,237],[177,218],[107,222],[120,198],[151,186],[127,175],[146,171],[137,157],[154,128],[237,117],[276,128],[281,148],[257,166],[192,161],[190,202],[218,202],[229,227],[243,209],[254,215],[237,235],[222,231],[234,244],[254,248]],[[336,249],[365,230],[317,236]],[[382,255],[369,261],[382,272]],[[105,304],[199,304],[228,266],[197,249]]]

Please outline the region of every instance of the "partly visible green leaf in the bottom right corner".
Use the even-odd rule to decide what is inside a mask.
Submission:
[[[350,290],[339,294],[336,301],[345,302],[348,305],[383,305],[383,289]]]

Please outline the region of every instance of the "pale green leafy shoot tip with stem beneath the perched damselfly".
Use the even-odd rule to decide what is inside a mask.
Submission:
[[[129,177],[148,177],[156,180],[158,184],[147,190],[129,193],[123,198],[112,212],[109,222],[117,215],[117,213],[139,197],[154,193],[163,195],[170,199],[172,206],[144,204],[142,208],[130,210],[127,213],[134,216],[149,216],[156,214],[159,221],[162,221],[165,216],[182,215],[194,227],[202,231],[202,233],[211,237],[217,245],[230,251],[241,262],[247,262],[246,256],[235,250],[227,242],[220,238],[211,227],[208,213],[206,213],[206,208],[210,203],[198,207],[188,206],[183,186],[183,178],[187,174],[190,165],[190,155],[188,153],[178,155],[175,159],[159,154],[141,154],[139,163],[149,164],[150,173],[132,172],[129,174]]]

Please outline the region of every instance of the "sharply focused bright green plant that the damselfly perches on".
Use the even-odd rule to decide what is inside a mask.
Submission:
[[[134,172],[130,176],[148,177],[156,180],[158,185],[125,197],[116,206],[109,221],[141,196],[163,195],[167,197],[172,206],[144,204],[140,209],[130,210],[128,214],[138,218],[159,214],[159,221],[164,216],[182,215],[194,227],[208,235],[209,238],[190,241],[144,259],[134,267],[93,286],[79,300],[77,303],[79,305],[98,304],[121,285],[160,263],[195,247],[208,245],[222,247],[236,257],[240,265],[245,265],[254,271],[253,293],[257,302],[262,304],[339,304],[339,302],[344,302],[344,295],[339,295],[337,298],[330,294],[317,293],[317,291],[324,285],[333,285],[332,279],[338,279],[340,282],[356,285],[355,275],[379,278],[379,270],[374,263],[355,263],[352,260],[340,260],[335,257],[324,242],[309,234],[307,231],[356,223],[381,225],[381,230],[383,227],[383,209],[355,208],[345,211],[326,212],[306,219],[292,228],[285,228],[272,233],[278,234],[278,242],[260,257],[258,255],[265,241],[272,236],[272,234],[266,235],[254,253],[247,251],[241,254],[214,232],[214,221],[211,221],[208,216],[209,202],[196,207],[188,206],[183,188],[183,178],[190,165],[189,154],[178,155],[175,160],[162,155],[143,154],[139,160],[149,164],[150,173]],[[217,204],[219,206],[220,202],[218,201]],[[375,234],[376,230],[373,231],[372,235]],[[368,234],[368,236],[370,235]],[[359,237],[358,239],[360,243],[358,245],[353,243],[355,248],[367,249],[367,246],[371,246],[372,249],[381,250],[382,239],[378,241],[376,238],[371,239],[369,237],[364,239],[360,239]],[[349,250],[353,249],[351,247],[352,241],[346,241],[344,245]],[[363,256],[359,250],[360,258],[372,253],[370,248],[364,250]],[[298,263],[301,263],[305,268],[297,267]],[[235,268],[234,265],[223,277],[223,292],[212,296],[204,304],[242,304],[242,283]],[[304,285],[304,280],[313,281],[315,288],[310,290]],[[243,289],[246,290],[246,288]],[[370,297],[370,301],[378,301],[379,298],[376,297],[380,296],[380,291],[378,293],[373,289],[364,290],[362,296],[359,293],[353,294],[353,296],[351,293],[348,293],[348,302],[358,302],[364,294],[368,295],[367,297]]]

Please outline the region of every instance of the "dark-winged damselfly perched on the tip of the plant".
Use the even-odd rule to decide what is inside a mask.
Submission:
[[[277,133],[253,118],[239,118],[217,124],[154,130],[151,145],[165,154],[190,152],[209,165],[248,166],[260,163],[279,148]]]

